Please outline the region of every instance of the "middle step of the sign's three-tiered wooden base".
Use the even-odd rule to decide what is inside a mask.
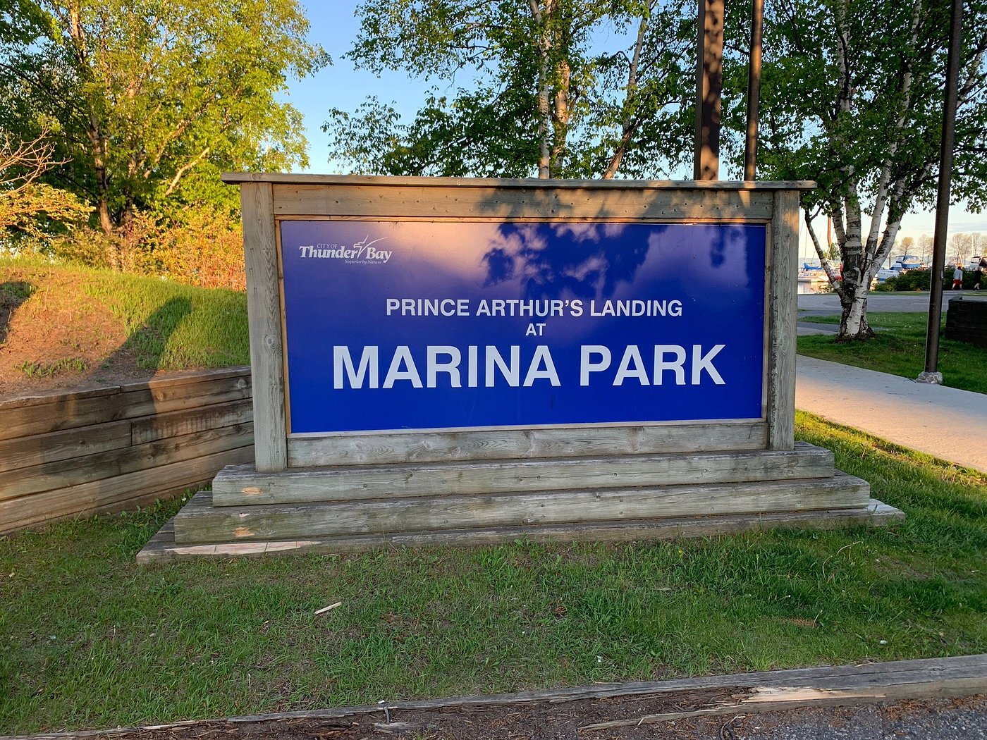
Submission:
[[[633,521],[718,514],[862,508],[867,481],[832,479],[263,506],[188,507],[175,520],[181,544],[298,540],[380,533]]]

